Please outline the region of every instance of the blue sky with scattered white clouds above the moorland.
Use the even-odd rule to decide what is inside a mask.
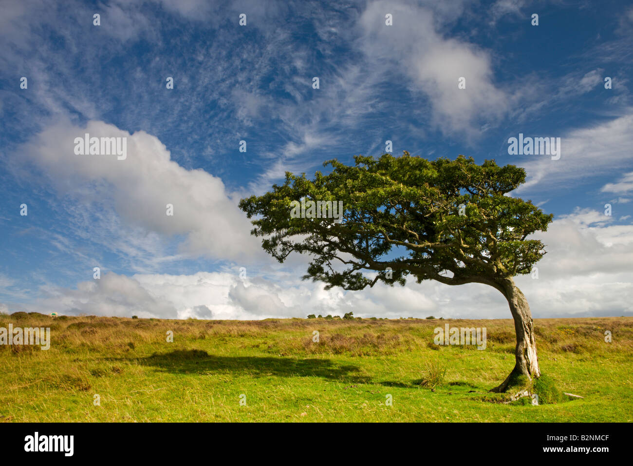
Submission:
[[[249,234],[241,198],[391,141],[525,168],[511,195],[555,216],[538,277],[515,279],[534,318],[633,315],[630,2],[0,10],[0,312],[510,318],[480,284],[325,291],[301,280],[308,257],[279,264]],[[125,159],[75,153],[85,133],[127,138]],[[519,134],[560,138],[560,157],[511,154]]]

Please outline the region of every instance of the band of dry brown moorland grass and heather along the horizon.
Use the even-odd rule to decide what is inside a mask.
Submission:
[[[98,316],[60,316],[37,313],[0,315],[0,327],[8,323],[21,327],[50,327],[53,347],[61,351],[98,349],[113,354],[130,353],[135,347],[163,342],[167,330],[175,339],[220,342],[244,340],[271,354],[348,354],[369,356],[396,354],[412,349],[436,347],[434,328],[486,327],[487,349],[513,353],[513,322],[504,320],[325,320],[287,319],[260,321],[199,321],[130,319]],[[605,347],[604,332],[610,330],[615,346],[633,344],[633,318],[537,319],[534,321],[539,349],[553,353],[600,351]],[[312,332],[320,332],[318,344]],[[0,352],[35,354],[32,346],[0,346]]]

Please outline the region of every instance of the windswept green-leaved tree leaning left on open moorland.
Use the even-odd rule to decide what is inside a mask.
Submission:
[[[553,215],[506,195],[525,181],[525,170],[494,160],[477,165],[463,155],[431,161],[406,151],[354,161],[329,160],[323,165],[330,173],[316,172],[313,180],[286,172],[281,186],[242,199],[240,208],[256,217],[251,234],[263,237],[263,249],[280,262],[292,252],[310,255],[303,279],[326,289],[404,285],[407,276],[496,288],[510,306],[517,347],[514,369],[493,390],[506,391],[519,375],[539,377],[532,314],[512,277],[530,273],[545,254],[542,242],[527,236],[546,231]],[[306,209],[291,215],[298,200]],[[341,201],[337,219],[331,207]]]

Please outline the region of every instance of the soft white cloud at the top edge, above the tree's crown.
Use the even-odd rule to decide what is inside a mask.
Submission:
[[[385,14],[393,26],[385,25]],[[434,12],[415,4],[374,1],[359,19],[358,46],[368,69],[407,75],[412,89],[430,99],[434,122],[444,133],[458,131],[473,138],[482,120],[488,124],[508,110],[508,96],[492,82],[491,56],[473,44],[437,32]],[[465,77],[466,89],[458,89]]]

